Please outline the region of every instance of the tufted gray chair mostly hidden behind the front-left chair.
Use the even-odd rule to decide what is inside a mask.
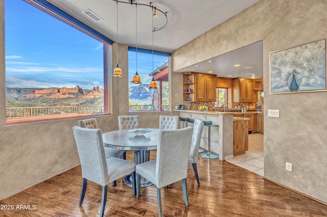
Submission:
[[[82,128],[98,129],[97,119],[95,118],[79,120],[78,125]],[[126,159],[126,152],[124,150],[104,147],[104,151],[106,153],[106,158],[120,157]]]

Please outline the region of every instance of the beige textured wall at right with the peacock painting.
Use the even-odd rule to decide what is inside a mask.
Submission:
[[[269,94],[269,53],[327,37],[326,6],[325,0],[261,0],[173,53],[178,70],[264,40],[265,177],[324,202],[327,92]],[[268,117],[268,109],[280,117]]]

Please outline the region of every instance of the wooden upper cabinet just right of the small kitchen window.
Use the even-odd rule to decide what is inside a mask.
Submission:
[[[255,96],[252,79],[233,78],[233,102],[256,102]]]

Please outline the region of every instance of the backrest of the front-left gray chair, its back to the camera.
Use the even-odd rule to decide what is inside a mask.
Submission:
[[[73,127],[82,177],[102,186],[108,183],[108,169],[101,129]]]

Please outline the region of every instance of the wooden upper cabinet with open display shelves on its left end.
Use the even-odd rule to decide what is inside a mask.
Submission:
[[[188,79],[191,83],[187,82]],[[216,75],[184,72],[183,101],[216,101]]]

